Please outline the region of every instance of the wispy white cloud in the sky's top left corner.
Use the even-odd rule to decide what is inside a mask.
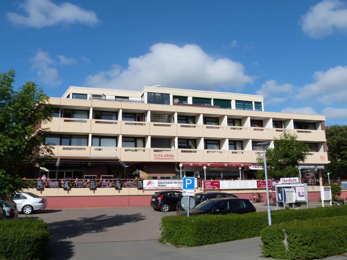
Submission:
[[[73,23],[91,26],[99,22],[94,11],[83,9],[68,2],[56,5],[49,0],[26,0],[19,7],[25,15],[16,12],[6,13],[9,21],[16,25],[42,28]]]

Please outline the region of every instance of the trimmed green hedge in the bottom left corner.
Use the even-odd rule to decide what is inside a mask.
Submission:
[[[0,220],[0,259],[42,259],[49,237],[42,219]]]

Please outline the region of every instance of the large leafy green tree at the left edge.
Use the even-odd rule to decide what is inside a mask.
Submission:
[[[28,160],[40,162],[52,153],[52,146],[41,146],[49,129],[41,122],[52,120],[49,97],[33,82],[17,91],[12,84],[16,73],[0,73],[0,195],[10,195],[27,186],[20,179],[17,164]]]

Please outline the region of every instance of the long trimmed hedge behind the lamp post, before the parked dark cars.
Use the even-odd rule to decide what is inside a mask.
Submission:
[[[347,205],[311,209],[272,210],[272,224],[293,219],[347,215]],[[161,219],[161,241],[174,245],[199,246],[260,236],[268,226],[267,211],[247,214],[165,216]]]

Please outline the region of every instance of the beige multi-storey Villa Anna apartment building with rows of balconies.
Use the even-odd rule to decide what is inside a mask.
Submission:
[[[45,143],[54,156],[22,170],[26,177],[79,179],[84,175],[133,178],[182,175],[206,179],[252,179],[256,145],[284,131],[310,147],[302,176],[319,179],[328,163],[325,116],[264,111],[262,96],[162,87],[140,92],[69,87],[50,98],[54,117]],[[241,172],[239,171],[241,166]]]

